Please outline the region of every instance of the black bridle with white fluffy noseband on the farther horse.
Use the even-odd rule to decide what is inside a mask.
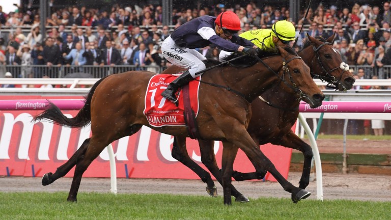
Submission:
[[[320,66],[322,67],[323,72],[325,72],[326,75],[322,76],[322,75],[319,75],[319,74],[315,74],[312,70],[311,70],[311,74],[314,75],[314,76],[317,76],[320,80],[322,80],[322,82],[326,81],[327,82],[327,86],[326,87],[338,90],[339,89],[338,85],[342,85],[341,84],[342,74],[341,74],[340,78],[337,80],[336,77],[331,75],[331,72],[334,71],[334,70],[337,70],[339,68],[341,68],[343,71],[348,71],[349,70],[349,65],[347,65],[344,62],[342,62],[340,64],[340,66],[338,66],[336,68],[333,68],[333,69],[330,70],[330,72],[328,72],[326,70],[326,68],[324,68],[323,63],[322,63],[322,61],[320,59],[320,56],[319,56],[319,52],[318,52],[319,49],[322,48],[326,44],[331,45],[331,43],[329,43],[329,42],[324,42],[321,45],[319,45],[317,48],[314,45],[312,45],[312,48],[314,49],[315,54],[316,54],[316,59],[318,60],[318,63],[320,64]],[[314,60],[312,60],[312,63],[313,62],[314,62]],[[311,63],[311,65],[313,65],[312,63]],[[342,87],[346,90],[346,88],[343,85],[342,85]]]

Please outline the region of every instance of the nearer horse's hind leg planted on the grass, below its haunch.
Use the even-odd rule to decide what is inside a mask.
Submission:
[[[83,155],[80,160],[77,160],[75,174],[73,175],[73,180],[71,184],[71,189],[69,190],[68,201],[76,202],[77,201],[77,191],[79,190],[81,177],[83,173],[90,166],[91,162],[99,156],[103,149],[109,145],[111,142],[120,139],[123,136],[132,135],[137,132],[142,125],[133,125],[127,129],[118,128],[118,130],[124,130],[121,133],[105,132],[107,130],[103,129],[101,132],[96,132],[92,134],[90,139],[89,147],[87,148],[86,153]]]

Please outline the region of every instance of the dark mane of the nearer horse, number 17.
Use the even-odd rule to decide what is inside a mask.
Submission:
[[[297,56],[297,53],[296,51],[290,47],[290,46],[286,46],[284,47],[284,49],[292,54],[292,55],[296,55]],[[232,60],[234,58],[237,58],[237,57],[240,57],[242,56],[244,53],[243,52],[234,52],[232,53],[230,56],[228,56],[226,58],[227,61],[229,60]],[[280,54],[276,54],[276,53],[269,53],[269,52],[262,52],[261,54],[258,55],[259,58],[263,59],[263,58],[267,58],[267,57],[274,57],[274,56],[280,56]],[[240,58],[238,60],[234,60],[234,61],[231,61],[229,64],[231,66],[234,66],[234,67],[240,67],[240,68],[245,68],[245,67],[250,67],[250,66],[253,66],[254,64],[256,64],[258,62],[258,59],[256,57],[252,57],[252,56],[245,56],[243,58]]]

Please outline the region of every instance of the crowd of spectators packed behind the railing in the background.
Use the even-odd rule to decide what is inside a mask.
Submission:
[[[0,6],[0,66],[46,65],[135,65],[146,69],[150,65],[169,66],[160,50],[162,41],[177,26],[202,15],[216,16],[222,11],[233,10],[241,20],[242,32],[250,29],[265,29],[278,20],[289,20],[286,7],[257,7],[247,4],[243,7],[217,5],[202,9],[173,9],[172,26],[162,25],[162,7],[145,5],[124,6],[117,4],[110,10],[86,7],[51,8],[46,20],[46,30],[40,29],[39,10],[18,10],[6,14]],[[334,48],[345,63],[368,65],[373,74],[387,78],[384,65],[391,65],[389,2],[382,6],[354,4],[351,8],[329,8],[320,4],[300,12],[297,33],[302,25],[305,31],[298,35],[297,49],[303,45],[307,34],[328,38],[336,33]],[[28,28],[29,33],[23,30]],[[10,29],[10,32],[2,31]],[[43,39],[42,32],[46,38]],[[200,48],[207,58],[217,59],[219,50],[213,46]],[[368,70],[368,69],[366,69]],[[1,69],[0,69],[1,71]],[[357,72],[356,72],[357,73]],[[13,74],[16,77],[19,75]],[[41,77],[34,74],[22,77]]]

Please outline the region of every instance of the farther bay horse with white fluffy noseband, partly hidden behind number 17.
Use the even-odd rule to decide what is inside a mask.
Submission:
[[[349,90],[353,87],[355,78],[348,71],[341,60],[340,54],[332,47],[334,35],[327,40],[318,37],[309,37],[298,53],[303,61],[310,67],[311,74],[326,80],[329,87],[338,88],[340,91]],[[162,74],[172,74],[183,69],[172,66],[162,72]],[[317,74],[316,74],[317,73]],[[292,93],[285,92],[278,84],[262,94],[263,100],[260,98],[252,102],[252,118],[250,119],[247,131],[253,138],[255,143],[264,145],[271,143],[273,145],[281,145],[301,151],[304,155],[303,171],[299,182],[299,188],[305,189],[310,183],[310,169],[313,152],[311,146],[300,139],[292,130],[291,127],[297,120],[299,114],[299,102],[297,96]],[[177,144],[174,145],[172,155],[175,159],[185,164],[192,171],[197,173],[200,178],[207,183],[206,190],[209,195],[216,197],[216,187],[210,174],[203,170],[197,163],[193,162],[186,151],[186,140],[177,138]],[[221,183],[222,177],[219,168],[215,161],[213,152],[213,142],[207,140],[199,140],[201,158],[204,165],[215,176],[216,180]],[[266,170],[287,190],[289,182],[278,173],[271,161],[262,155],[261,158]],[[263,179],[266,172],[243,174],[237,171],[233,172],[233,177],[236,181],[249,179]],[[248,199],[232,186],[232,195],[237,202],[248,202]],[[292,201],[298,202],[293,195]]]

